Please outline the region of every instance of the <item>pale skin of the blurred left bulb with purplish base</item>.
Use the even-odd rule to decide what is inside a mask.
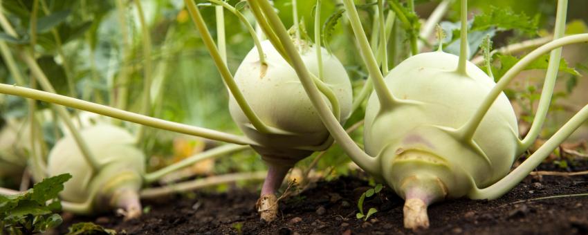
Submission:
[[[66,136],[51,149],[48,157],[48,174],[56,176],[71,173],[73,176],[59,194],[62,200],[84,203],[98,196],[93,203],[95,211],[109,207],[111,194],[116,189],[140,189],[145,173],[145,156],[134,147],[134,137],[125,129],[109,124],[97,124],[81,131],[82,138],[89,144],[90,151],[100,162],[100,171],[91,173],[91,167],[83,158],[77,144]]]

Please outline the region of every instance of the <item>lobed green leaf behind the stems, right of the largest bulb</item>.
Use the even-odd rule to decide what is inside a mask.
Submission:
[[[506,73],[506,71],[508,71],[508,69],[513,67],[520,60],[519,58],[514,57],[512,55],[502,55],[499,53],[495,54],[493,56],[493,59],[498,59],[500,61],[499,66],[494,67],[493,71],[492,71],[492,73],[495,76],[496,81],[498,81],[498,79],[500,79],[504,75],[504,73]],[[535,59],[535,61],[531,62],[531,64],[529,64],[529,66],[526,66],[526,68],[524,68],[524,70],[547,69],[548,65],[549,65],[549,54],[546,54],[546,55],[542,55],[538,59]],[[578,71],[576,71],[576,69],[569,67],[568,63],[563,58],[560,60],[559,71],[564,72],[564,73],[568,73],[568,74],[574,75],[574,76],[580,75],[580,73],[578,73]]]

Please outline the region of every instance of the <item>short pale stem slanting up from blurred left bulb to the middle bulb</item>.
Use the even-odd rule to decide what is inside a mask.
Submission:
[[[162,169],[159,169],[157,171],[147,173],[147,174],[145,174],[145,176],[143,176],[143,178],[145,179],[146,183],[155,182],[156,180],[160,179],[161,177],[167,175],[168,173],[171,173],[171,172],[176,171],[178,169],[182,169],[184,167],[189,167],[190,165],[192,165],[196,162],[200,162],[200,161],[207,160],[210,158],[217,158],[220,156],[225,156],[225,155],[228,155],[229,153],[233,153],[233,152],[241,151],[241,150],[245,150],[245,149],[249,149],[249,146],[236,145],[236,144],[225,144],[221,147],[216,147],[214,149],[210,149],[207,151],[203,151],[201,153],[197,153],[194,156],[191,156],[189,158],[185,158],[179,162],[171,164],[171,165],[164,167]]]

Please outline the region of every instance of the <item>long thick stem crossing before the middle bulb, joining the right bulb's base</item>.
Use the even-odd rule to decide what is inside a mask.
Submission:
[[[277,14],[273,12],[273,8],[270,6],[270,3],[267,0],[249,1],[259,3],[259,6],[261,6],[261,10],[263,10],[266,17],[268,17],[268,21],[273,26],[273,30],[275,30],[277,37],[279,37],[279,39],[283,42],[284,48],[286,49],[286,53],[292,59],[293,68],[295,69],[298,78],[300,79],[300,82],[304,87],[304,91],[306,91],[306,94],[309,95],[309,98],[313,103],[313,106],[315,106],[315,109],[317,109],[322,122],[325,124],[331,135],[333,135],[333,138],[341,145],[341,147],[353,159],[353,161],[356,162],[362,169],[365,169],[365,171],[367,171],[368,173],[376,172],[376,169],[378,167],[376,158],[372,158],[371,156],[367,155],[367,153],[362,151],[362,149],[360,149],[355,144],[355,142],[353,142],[353,139],[351,139],[351,137],[349,137],[349,135],[345,132],[345,130],[339,124],[338,120],[333,115],[333,113],[331,113],[331,110],[329,110],[329,106],[327,106],[327,103],[324,102],[320,94],[320,91],[318,91],[318,88],[315,86],[311,74],[306,69],[304,62],[302,62],[300,54],[298,54],[294,44],[290,40],[290,36],[288,35],[288,32],[286,32],[284,24],[282,23],[282,21],[280,21]],[[363,39],[367,41],[365,35]],[[368,51],[367,53],[371,55],[371,51]],[[371,58],[374,58],[373,55],[371,55]],[[378,74],[381,77],[379,71]]]

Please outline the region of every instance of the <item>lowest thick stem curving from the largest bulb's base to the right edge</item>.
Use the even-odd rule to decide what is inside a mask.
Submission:
[[[584,34],[588,35],[588,34]],[[571,37],[571,36],[570,36]],[[565,38],[565,37],[564,37]],[[557,39],[558,41],[561,39]],[[576,115],[562,126],[562,128],[555,132],[549,140],[547,140],[535,153],[531,154],[523,163],[521,163],[516,169],[508,173],[507,176],[496,182],[494,185],[490,185],[485,189],[472,189],[468,194],[468,197],[472,199],[495,199],[506,194],[513,187],[515,187],[521,180],[523,180],[535,167],[549,156],[556,148],[560,146],[564,140],[566,140],[573,131],[576,131],[578,127],[582,126],[584,122],[588,120],[588,105],[584,106]],[[472,182],[474,183],[474,182]],[[474,183],[475,184],[475,183]]]

